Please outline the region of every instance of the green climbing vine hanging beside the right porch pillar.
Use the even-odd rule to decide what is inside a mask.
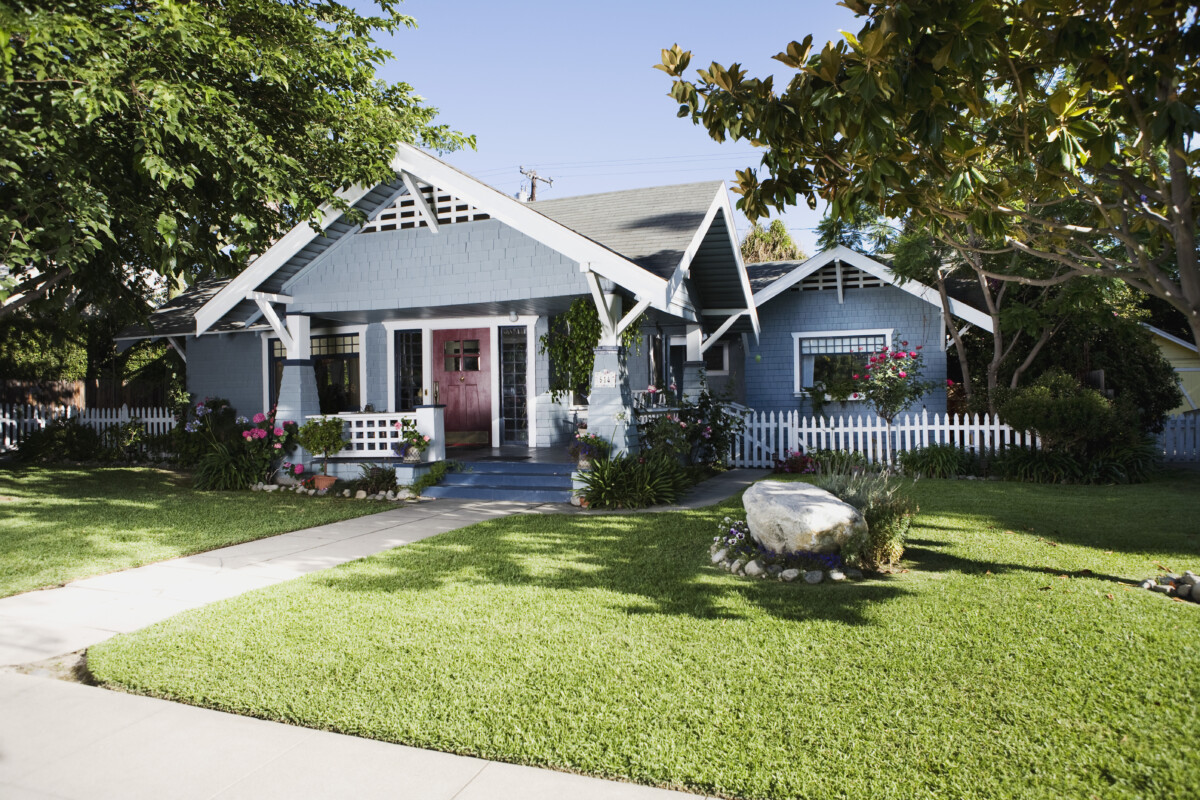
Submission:
[[[620,335],[626,350],[641,354],[638,318]],[[550,395],[556,401],[587,395],[592,387],[595,347],[600,343],[600,314],[588,297],[576,297],[565,313],[551,317],[550,330],[538,339],[538,351],[550,355]]]

